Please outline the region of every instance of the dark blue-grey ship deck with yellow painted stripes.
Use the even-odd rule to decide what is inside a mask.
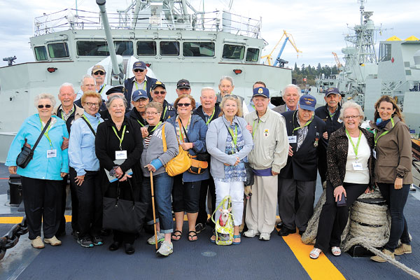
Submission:
[[[418,185],[420,174],[413,172]],[[4,235],[20,222],[23,213],[4,205],[8,189],[4,165],[0,165],[0,178],[0,235]],[[316,200],[320,195],[318,182]],[[416,238],[420,236],[419,200],[420,190],[410,191],[405,207],[413,253],[395,256],[416,271],[420,271],[420,240]],[[155,246],[146,244],[149,236],[145,232],[134,244],[134,255],[126,255],[123,249],[108,251],[111,237],[106,237],[104,246],[82,248],[69,235],[70,223],[66,232],[60,238],[62,246],[46,244],[42,250],[31,248],[27,235],[23,235],[0,261],[0,279],[412,279],[389,263],[352,258],[348,253],[334,257],[327,252],[311,260],[312,246],[302,244],[297,234],[279,237],[273,232],[270,241],[243,237],[239,246],[216,246],[209,241],[209,227],[198,235],[198,241],[188,241],[185,222],[183,237],[174,241],[174,253],[160,258],[155,255]]]

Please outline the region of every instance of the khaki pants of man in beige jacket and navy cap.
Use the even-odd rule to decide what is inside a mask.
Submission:
[[[271,233],[276,225],[277,176],[254,176],[252,196],[246,203],[246,226],[260,233]]]

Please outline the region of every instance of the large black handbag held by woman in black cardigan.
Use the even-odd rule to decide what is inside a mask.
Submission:
[[[127,178],[128,183],[130,179]],[[120,232],[137,233],[143,227],[148,204],[135,202],[134,192],[130,183],[132,200],[120,200],[120,182],[118,181],[117,197],[104,197],[103,228],[119,230]]]

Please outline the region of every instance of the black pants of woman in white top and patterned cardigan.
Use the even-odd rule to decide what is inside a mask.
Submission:
[[[330,247],[339,247],[341,235],[349,219],[349,207],[365,192],[367,184],[343,183],[343,187],[347,195],[346,206],[337,207],[334,188],[330,180],[327,180],[326,200],[319,217],[318,233],[314,246],[314,248],[320,248],[324,252]]]

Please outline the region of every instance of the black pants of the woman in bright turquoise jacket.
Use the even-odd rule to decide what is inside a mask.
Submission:
[[[29,229],[29,239],[51,238],[59,226],[62,201],[62,181],[32,179],[22,176],[23,203]]]

